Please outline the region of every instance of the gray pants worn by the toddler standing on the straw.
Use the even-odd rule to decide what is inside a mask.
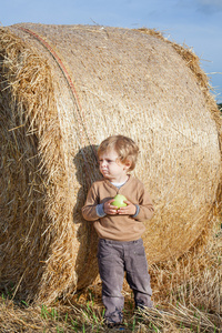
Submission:
[[[135,307],[152,307],[152,290],[142,239],[132,242],[100,239],[98,262],[107,322],[122,322],[124,297],[121,291],[124,272],[134,294]]]

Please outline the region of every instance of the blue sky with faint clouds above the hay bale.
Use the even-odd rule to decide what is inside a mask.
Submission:
[[[0,0],[0,22],[154,28],[193,49],[222,102],[222,0]]]

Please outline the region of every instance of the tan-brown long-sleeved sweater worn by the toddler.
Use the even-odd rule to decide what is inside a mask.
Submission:
[[[97,205],[113,199],[117,194],[123,194],[130,202],[139,205],[140,210],[135,218],[131,215],[105,215],[99,218]],[[154,209],[149,193],[141,181],[129,176],[129,180],[120,189],[109,180],[97,181],[92,184],[82,215],[88,221],[93,221],[99,238],[115,241],[137,241],[145,230],[142,223],[153,216]]]

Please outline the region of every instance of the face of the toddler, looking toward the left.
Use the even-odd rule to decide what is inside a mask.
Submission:
[[[118,153],[110,149],[99,155],[100,172],[112,182],[123,182],[130,164],[123,164],[118,160]]]

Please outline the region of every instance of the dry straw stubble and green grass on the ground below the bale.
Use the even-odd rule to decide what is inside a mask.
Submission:
[[[150,268],[154,309],[135,312],[127,283],[124,332],[222,332],[222,229],[200,253]],[[51,306],[14,300],[13,285],[2,291],[0,332],[115,332],[103,324],[101,285]]]

